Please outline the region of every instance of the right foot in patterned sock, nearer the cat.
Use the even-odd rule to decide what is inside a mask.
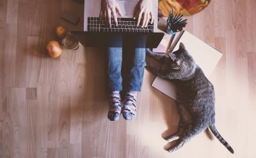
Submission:
[[[132,120],[136,116],[136,96],[137,91],[129,91],[125,95],[122,115],[125,120]]]

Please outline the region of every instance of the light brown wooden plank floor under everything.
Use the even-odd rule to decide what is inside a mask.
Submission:
[[[256,1],[214,0],[187,30],[223,52],[211,75],[216,127],[232,155],[203,132],[164,150],[177,130],[175,102],[150,86],[145,70],[138,116],[109,122],[106,52],[80,47],[45,54],[54,27],[83,30],[83,5],[70,0],[0,0],[0,157],[256,157]],[[63,10],[81,17],[77,26]]]

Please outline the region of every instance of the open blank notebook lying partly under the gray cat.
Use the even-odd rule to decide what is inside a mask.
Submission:
[[[175,36],[178,37],[174,39],[171,44],[169,43],[169,45],[163,46],[164,43],[162,43],[162,45],[159,45],[159,47],[157,47],[153,51],[157,50],[157,52],[163,53],[168,53],[168,51],[177,51],[179,49],[179,43],[182,42],[184,43],[189,54],[191,54],[191,56],[195,60],[196,64],[199,65],[200,68],[202,68],[205,76],[209,77],[214,68],[216,67],[218,61],[220,60],[222,53],[214,49],[210,45],[207,45],[207,43],[198,39],[196,36],[192,35],[188,31],[182,31],[181,33],[179,33],[179,35]],[[163,92],[164,94],[168,95],[172,99],[176,100],[175,85],[170,81],[167,81],[157,76],[152,83],[152,86],[157,90]]]

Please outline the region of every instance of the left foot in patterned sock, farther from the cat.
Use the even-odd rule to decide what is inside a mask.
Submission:
[[[108,119],[111,121],[117,121],[121,113],[121,99],[119,91],[113,91],[110,95]]]

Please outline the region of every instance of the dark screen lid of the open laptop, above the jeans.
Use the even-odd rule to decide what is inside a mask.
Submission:
[[[84,47],[156,48],[164,33],[111,33],[71,31]]]

